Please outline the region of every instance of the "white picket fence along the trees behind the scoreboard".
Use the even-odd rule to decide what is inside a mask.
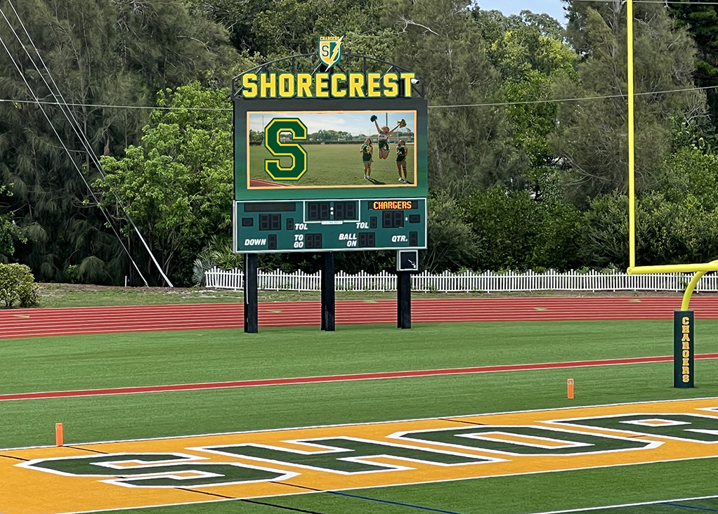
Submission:
[[[495,273],[464,271],[442,274],[411,276],[411,290],[417,292],[464,293],[472,291],[518,292],[518,291],[684,291],[692,274],[628,275],[619,271],[546,271],[536,273]],[[302,271],[258,272],[258,288],[274,291],[320,291],[321,272],[306,274]],[[212,268],[205,273],[205,287],[209,289],[242,289],[242,270],[224,271]],[[337,291],[396,291],[396,274],[383,271],[370,275],[363,271],[348,275],[343,271],[335,275]],[[718,275],[704,276],[696,291],[718,291]]]

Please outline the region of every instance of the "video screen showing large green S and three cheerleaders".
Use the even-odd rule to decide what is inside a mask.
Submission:
[[[416,187],[416,111],[251,111],[247,188]]]

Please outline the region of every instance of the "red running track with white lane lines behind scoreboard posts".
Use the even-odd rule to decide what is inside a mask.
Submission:
[[[679,297],[414,299],[414,323],[673,319]],[[697,319],[718,319],[718,297],[691,300]],[[320,326],[320,302],[259,304],[260,327]],[[396,300],[345,300],[337,324],[396,323]],[[243,327],[243,304],[73,307],[0,311],[0,339]]]

